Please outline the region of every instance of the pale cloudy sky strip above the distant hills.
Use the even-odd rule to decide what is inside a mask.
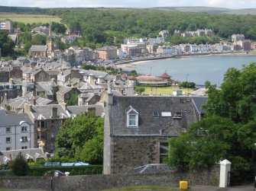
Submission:
[[[0,0],[0,5],[38,8],[152,8],[183,6],[256,8],[256,0]]]

